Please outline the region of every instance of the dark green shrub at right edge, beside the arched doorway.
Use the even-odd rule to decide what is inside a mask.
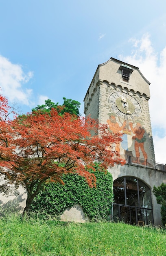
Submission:
[[[161,215],[162,225],[166,226],[166,184],[162,183],[158,187],[153,187],[153,193],[156,197],[157,204],[162,204]]]

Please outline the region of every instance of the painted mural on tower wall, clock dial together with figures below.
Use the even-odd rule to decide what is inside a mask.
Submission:
[[[144,148],[148,139],[144,129],[146,119],[140,99],[126,92],[113,91],[109,95],[108,103],[109,113],[106,121],[109,130],[122,133],[122,142],[115,145],[115,150],[122,155],[148,159]]]

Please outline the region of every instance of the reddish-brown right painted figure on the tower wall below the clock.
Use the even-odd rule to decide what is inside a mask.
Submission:
[[[140,152],[139,149],[142,151],[142,154],[144,156],[144,159],[148,159],[148,155],[146,154],[145,150],[144,150],[144,142],[146,141],[146,137],[144,135],[145,130],[144,128],[142,128],[142,125],[140,123],[137,123],[135,128],[133,128],[133,124],[129,123],[129,126],[133,132],[133,134],[135,134],[135,136],[132,137],[132,139],[135,139],[135,155],[136,157],[140,157]]]

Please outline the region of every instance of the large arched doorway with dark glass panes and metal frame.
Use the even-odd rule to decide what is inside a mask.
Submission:
[[[114,181],[112,220],[135,225],[154,224],[151,189],[135,177]]]

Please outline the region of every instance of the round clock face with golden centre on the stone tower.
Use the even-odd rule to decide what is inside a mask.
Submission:
[[[141,115],[141,107],[138,101],[125,92],[113,92],[108,101],[111,110],[126,120],[138,119]]]

